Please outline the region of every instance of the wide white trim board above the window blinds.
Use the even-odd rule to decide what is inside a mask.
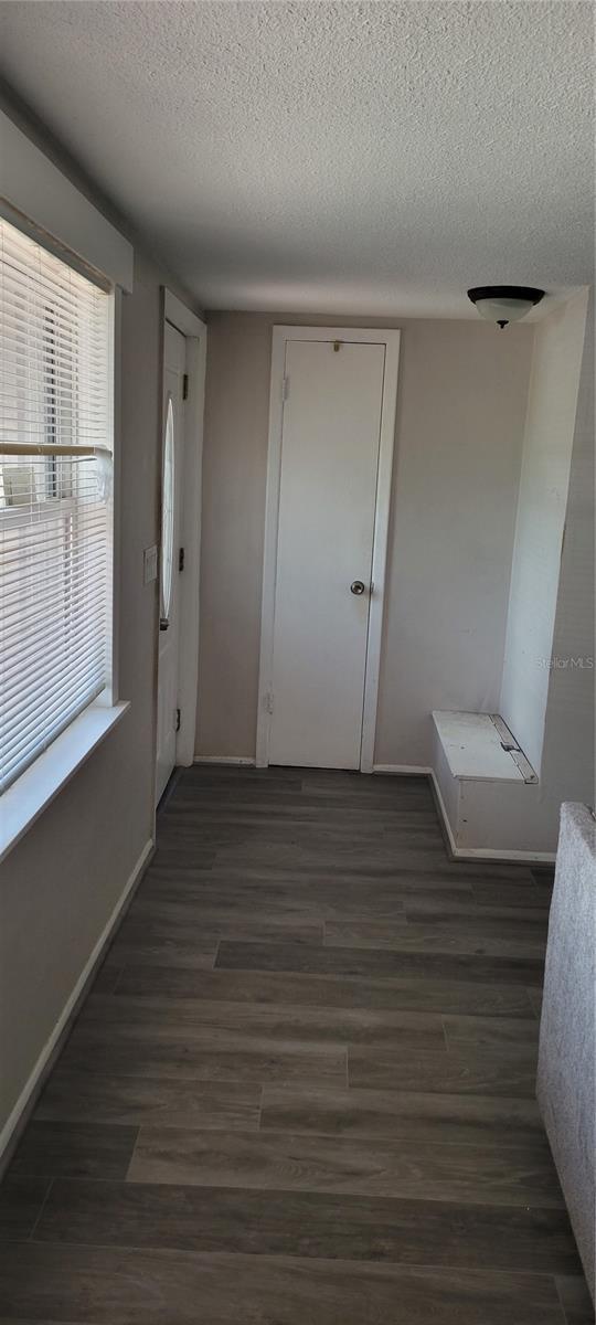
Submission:
[[[0,193],[17,213],[5,213],[12,224],[19,224],[20,213],[25,224],[32,221],[113,285],[132,289],[132,245],[4,111],[0,162]]]

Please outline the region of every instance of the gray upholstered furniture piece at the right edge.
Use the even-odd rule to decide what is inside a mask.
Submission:
[[[596,822],[560,816],[540,1023],[538,1100],[588,1285],[595,1296]]]

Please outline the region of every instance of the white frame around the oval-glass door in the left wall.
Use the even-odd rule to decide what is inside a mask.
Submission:
[[[205,408],[205,366],[207,366],[207,323],[191,309],[162,286],[162,380],[163,398],[164,374],[164,331],[170,322],[187,342],[185,372],[188,374],[188,396],[184,401],[184,473],[183,509],[180,518],[181,546],[184,547],[184,571],[180,578],[180,620],[179,620],[179,668],[177,696],[180,708],[180,729],[176,735],[176,765],[189,767],[195,757],[196,709],[199,690],[199,584],[201,549],[201,480],[203,480],[203,421]],[[159,415],[162,420],[162,409]],[[163,423],[160,421],[160,457],[163,454]],[[162,490],[162,464],[160,480]],[[159,505],[162,519],[162,501]],[[162,529],[159,530],[162,545]],[[159,588],[159,576],[158,576]],[[156,633],[159,641],[159,633]],[[158,649],[158,643],[156,643]],[[155,758],[158,755],[158,686],[159,652],[155,682]]]

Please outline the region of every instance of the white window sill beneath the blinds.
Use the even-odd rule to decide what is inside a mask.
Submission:
[[[130,709],[90,704],[0,799],[0,861]]]

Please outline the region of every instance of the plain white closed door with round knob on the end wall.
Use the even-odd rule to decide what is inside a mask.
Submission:
[[[384,366],[286,342],[270,763],[360,767]]]

